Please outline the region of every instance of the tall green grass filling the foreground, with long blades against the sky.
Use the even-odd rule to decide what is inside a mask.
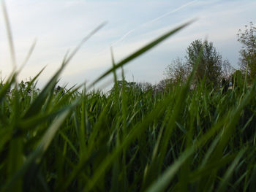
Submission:
[[[165,93],[88,91],[187,24],[65,93],[54,88],[80,45],[42,91],[42,71],[22,87],[15,69],[0,89],[0,191],[256,191],[255,83],[190,90],[195,64]]]

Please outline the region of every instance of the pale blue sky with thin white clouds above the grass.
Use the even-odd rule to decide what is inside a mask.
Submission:
[[[213,42],[222,58],[238,67],[241,45],[236,34],[249,22],[256,23],[255,0],[6,0],[5,4],[18,66],[23,63],[35,39],[37,42],[18,78],[29,80],[46,66],[39,76],[39,88],[61,66],[67,50],[74,49],[83,37],[103,22],[107,24],[85,42],[64,69],[60,85],[93,82],[112,66],[110,47],[115,61],[121,61],[146,43],[193,18],[197,18],[195,23],[124,66],[126,79],[159,82],[165,78],[165,68],[173,59],[184,58],[187,47],[195,39]],[[2,9],[0,71],[1,79],[7,78],[12,71]],[[118,77],[121,77],[119,71]],[[110,75],[97,86],[104,89],[112,81],[113,75]]]

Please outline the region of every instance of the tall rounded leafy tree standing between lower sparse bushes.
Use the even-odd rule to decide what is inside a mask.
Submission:
[[[200,55],[201,49],[203,49],[202,55]],[[219,84],[222,74],[222,55],[217,52],[212,42],[195,40],[187,48],[186,58],[189,69],[192,69],[197,58],[200,58],[195,74],[196,82],[204,79],[206,83]]]

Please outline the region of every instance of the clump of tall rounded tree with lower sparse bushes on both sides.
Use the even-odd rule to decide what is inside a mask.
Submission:
[[[200,55],[201,50],[202,55]],[[234,69],[229,61],[222,61],[222,55],[217,52],[212,42],[202,42],[200,39],[195,40],[187,47],[186,61],[176,58],[165,68],[164,74],[167,76],[167,79],[172,80],[175,84],[177,82],[184,82],[187,80],[198,58],[200,58],[200,61],[195,74],[195,84],[205,80],[207,84],[211,83],[217,86],[223,78],[226,81],[230,80]]]

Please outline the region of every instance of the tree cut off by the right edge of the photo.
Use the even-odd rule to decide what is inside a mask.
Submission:
[[[245,30],[238,31],[238,42],[242,44],[239,58],[241,72],[247,72],[249,81],[252,82],[256,75],[256,27],[252,22],[245,26]]]

